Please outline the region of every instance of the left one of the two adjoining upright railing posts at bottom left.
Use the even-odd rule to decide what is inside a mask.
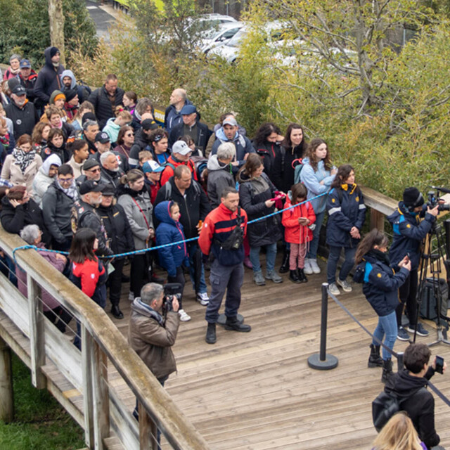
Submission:
[[[83,406],[84,406],[84,442],[89,449],[94,449],[94,407],[92,401],[92,336],[81,323],[82,370],[83,370]]]

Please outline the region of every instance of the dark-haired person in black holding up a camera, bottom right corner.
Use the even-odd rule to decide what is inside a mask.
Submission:
[[[439,444],[435,430],[435,399],[426,390],[428,380],[446,371],[446,363],[439,356],[430,364],[431,351],[425,344],[406,347],[403,362],[405,369],[387,380],[385,392],[397,394],[401,409],[408,413],[420,439],[428,449]]]

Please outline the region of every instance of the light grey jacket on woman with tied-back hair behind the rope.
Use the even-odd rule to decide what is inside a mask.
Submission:
[[[150,195],[144,186],[141,191],[133,191],[129,186],[121,184],[117,188],[119,200],[127,215],[131,232],[133,233],[134,248],[143,250],[151,246],[148,240],[148,230],[154,228],[152,212],[153,206],[150,202]]]

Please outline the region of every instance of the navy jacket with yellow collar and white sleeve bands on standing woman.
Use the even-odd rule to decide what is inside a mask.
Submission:
[[[356,226],[361,231],[366,220],[366,205],[361,190],[353,184],[331,189],[327,205],[326,243],[335,247],[356,247],[359,239],[350,236]]]

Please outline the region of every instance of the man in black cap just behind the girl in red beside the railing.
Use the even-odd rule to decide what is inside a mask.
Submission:
[[[72,207],[72,231],[75,233],[80,228],[90,228],[95,231],[98,239],[98,257],[113,255],[113,250],[109,248],[108,235],[103,226],[100,214],[97,212],[101,204],[101,193],[105,188],[104,184],[98,181],[84,181],[79,186],[81,198],[75,201]]]

